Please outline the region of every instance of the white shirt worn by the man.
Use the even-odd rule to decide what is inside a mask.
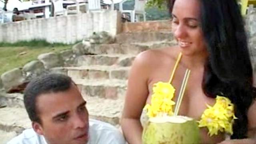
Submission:
[[[89,140],[87,144],[125,144],[123,134],[111,124],[98,120],[89,120]],[[44,136],[32,128],[26,129],[7,144],[47,144]]]

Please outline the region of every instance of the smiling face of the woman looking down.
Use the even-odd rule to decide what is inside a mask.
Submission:
[[[172,32],[184,55],[206,52],[200,26],[200,0],[176,0],[172,10]]]

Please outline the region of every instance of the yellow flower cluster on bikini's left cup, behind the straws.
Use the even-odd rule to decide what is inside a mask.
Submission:
[[[145,109],[149,118],[163,115],[173,115],[172,101],[175,88],[167,82],[158,82],[154,84],[151,104],[146,104]]]

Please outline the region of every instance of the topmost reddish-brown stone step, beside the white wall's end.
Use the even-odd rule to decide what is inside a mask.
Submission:
[[[130,44],[133,42],[154,42],[174,40],[171,31],[158,31],[158,32],[130,32],[121,33],[116,36],[116,43],[118,44]]]

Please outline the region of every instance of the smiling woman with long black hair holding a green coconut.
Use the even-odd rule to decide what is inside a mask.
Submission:
[[[148,50],[139,54],[132,65],[122,116],[122,130],[128,143],[140,144],[143,108],[150,104],[152,86],[168,82],[179,53],[182,58],[172,85],[174,101],[186,68],[191,70],[179,115],[200,120],[206,103],[214,105],[216,95],[234,104],[238,118],[231,140],[224,133],[209,136],[200,128],[202,143],[256,143],[256,102],[253,73],[246,33],[236,0],[170,0],[172,32],[177,46]],[[234,140],[239,139],[239,140]]]

